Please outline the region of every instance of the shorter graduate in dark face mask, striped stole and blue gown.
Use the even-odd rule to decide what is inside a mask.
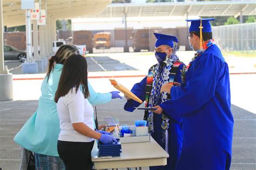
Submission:
[[[146,101],[145,107],[153,107],[170,100],[170,95],[160,93],[163,84],[181,82],[180,70],[184,64],[178,60],[176,53],[178,39],[174,36],[154,33],[156,41],[156,58],[158,63],[152,66],[149,74],[139,83],[134,84],[132,93],[138,96],[142,101]],[[174,42],[173,42],[174,41]],[[175,45],[174,45],[175,43]],[[127,96],[126,96],[127,98]],[[140,103],[127,98],[124,106],[126,111],[133,111]],[[157,143],[169,153],[166,166],[150,167],[150,169],[174,169],[183,140],[183,132],[180,122],[162,115],[153,114],[151,111],[145,111],[144,119],[147,120],[149,133]],[[153,153],[152,153],[153,154]]]

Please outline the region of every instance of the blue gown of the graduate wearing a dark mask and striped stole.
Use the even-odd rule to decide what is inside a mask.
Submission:
[[[183,68],[183,66],[184,66],[183,64],[179,66],[178,72],[174,78],[175,82],[181,82],[180,70]],[[142,81],[134,84],[133,88],[131,89],[132,93],[138,96],[142,101],[145,101],[146,79],[147,77],[144,77]],[[158,104],[160,103],[161,103],[161,98],[159,98],[159,101],[158,101]],[[140,103],[134,100],[128,100],[124,105],[124,109],[126,111],[132,112],[134,110],[133,107],[138,107],[139,105]],[[154,114],[153,116],[154,132],[151,133],[151,136],[165,150],[165,143],[161,141],[163,139],[163,129],[161,128],[162,121],[163,119],[161,118],[161,115]],[[182,131],[181,124],[175,121],[174,119],[172,119],[171,117],[170,117],[169,123],[170,123],[170,128],[168,129],[168,134],[169,134],[168,150],[169,150],[170,157],[167,159],[167,165],[150,167],[150,169],[172,170],[177,164],[177,160],[181,152],[183,131]]]

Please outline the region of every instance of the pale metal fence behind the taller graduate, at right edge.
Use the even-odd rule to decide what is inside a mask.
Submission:
[[[255,51],[256,23],[214,26],[213,38],[224,51]]]

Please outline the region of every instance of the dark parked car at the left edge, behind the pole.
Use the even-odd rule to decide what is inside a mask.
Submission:
[[[19,60],[24,62],[26,59],[26,52],[18,50],[15,47],[4,45],[4,60]]]

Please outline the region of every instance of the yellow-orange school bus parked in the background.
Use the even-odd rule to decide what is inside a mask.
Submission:
[[[111,47],[111,33],[110,32],[98,32],[94,34],[95,48],[99,49]]]

